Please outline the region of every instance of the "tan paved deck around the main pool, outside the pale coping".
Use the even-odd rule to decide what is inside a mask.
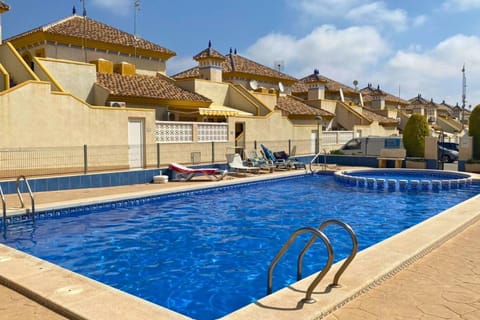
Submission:
[[[226,180],[236,180],[237,178],[238,177],[227,176]],[[195,180],[191,182],[169,182],[167,184],[155,185],[142,184],[110,188],[41,192],[35,194],[35,203],[37,208],[55,207],[85,201],[101,201],[113,196],[134,197],[161,190],[180,191],[185,188],[214,185],[216,183],[218,182]],[[15,201],[16,196],[8,196],[7,203],[11,204],[11,206],[16,205]],[[467,211],[480,211],[479,203],[479,201],[476,201],[476,203],[471,204],[470,207],[467,208]],[[472,214],[480,217],[480,213],[478,212],[472,212]],[[239,312],[237,315],[233,314],[233,316],[229,316],[228,318],[319,319],[323,317],[328,320],[480,319],[479,234],[480,220],[471,219],[471,223],[468,223],[462,227],[459,232],[455,232],[453,236],[442,241],[432,250],[429,250],[427,254],[415,259],[414,262],[402,267],[398,272],[390,274],[387,278],[382,279],[382,281],[378,281],[375,285],[370,285],[368,289],[362,290],[362,292],[356,294],[355,297],[345,300],[340,307],[336,306],[328,310],[327,313],[319,314],[316,312],[308,312],[310,306],[302,308],[297,305],[297,308],[303,309],[301,310],[304,311],[303,313],[296,313],[297,310],[293,312],[287,310],[287,312],[283,312],[283,314],[286,313],[285,316],[278,317],[278,314],[275,313],[278,310],[274,310],[275,312],[270,315],[258,315],[258,317],[255,317],[256,311],[254,310],[253,313]],[[2,257],[4,257],[4,261],[7,261],[5,259],[6,256],[7,255],[0,250],[0,319],[77,318],[75,314],[69,315],[65,314],[65,312],[56,313],[52,311],[52,309],[55,309],[54,307],[48,304],[44,306],[12,290],[10,288],[12,287],[11,284],[7,284],[2,280]],[[378,263],[378,261],[373,261],[373,263]],[[353,277],[361,277],[361,269],[368,268],[365,264],[352,267],[353,270],[359,270],[358,273],[351,275]],[[348,273],[348,270],[346,273]],[[322,284],[319,288],[321,287]],[[73,288],[72,291],[74,291],[74,289],[75,288]],[[318,293],[318,302],[314,305],[322,304],[322,296],[328,296],[329,294],[329,292]],[[265,304],[268,304],[268,300],[266,300]],[[314,305],[312,306],[315,307]],[[258,305],[254,306],[254,308],[255,307],[258,307]],[[265,307],[267,309],[275,309],[274,303],[272,303],[271,307],[264,305],[263,308]],[[281,312],[282,310],[279,311]],[[108,319],[108,316],[105,317],[105,313],[100,310],[98,310],[98,312],[99,317],[91,317],[91,319]],[[144,316],[145,314],[139,313],[138,317],[132,317],[132,314],[129,313],[128,316],[125,314],[125,319],[145,319]],[[120,319],[121,317],[116,316],[116,318]]]

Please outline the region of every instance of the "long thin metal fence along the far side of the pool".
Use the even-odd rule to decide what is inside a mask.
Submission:
[[[215,130],[212,132],[215,135]],[[210,141],[155,143],[141,146],[81,145],[4,148],[0,149],[0,179],[14,179],[19,175],[38,177],[160,168],[168,166],[171,162],[186,165],[225,163],[227,154],[240,153],[243,156],[244,150],[259,150],[260,144],[265,144],[273,151],[285,151],[292,156],[311,156],[315,153],[318,141],[309,139],[242,140],[241,143]],[[137,150],[138,153],[136,167],[131,163],[131,150]]]

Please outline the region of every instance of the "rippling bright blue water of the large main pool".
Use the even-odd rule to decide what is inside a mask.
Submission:
[[[115,209],[74,209],[9,225],[1,242],[192,318],[214,319],[265,295],[268,266],[298,228],[340,219],[356,232],[362,250],[479,191],[473,184],[442,193],[386,193],[305,175]],[[336,226],[325,233],[335,261],[346,257],[348,233]],[[274,291],[295,282],[296,254],[304,243],[298,241],[277,265]],[[304,276],[325,260],[318,242],[305,256]]]

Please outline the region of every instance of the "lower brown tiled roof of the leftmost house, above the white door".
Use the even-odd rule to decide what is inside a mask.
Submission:
[[[184,90],[160,77],[97,73],[97,83],[110,90],[111,95],[119,97],[211,102],[202,95]]]

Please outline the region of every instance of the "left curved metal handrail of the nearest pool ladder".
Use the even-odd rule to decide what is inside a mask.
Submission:
[[[325,246],[327,247],[327,251],[328,251],[327,263],[323,267],[323,270],[317,275],[317,277],[313,280],[313,282],[308,287],[307,294],[305,295],[305,298],[304,298],[304,301],[306,303],[315,302],[315,300],[312,299],[313,290],[318,285],[320,280],[322,280],[322,278],[327,274],[327,272],[330,270],[330,267],[332,266],[332,263],[333,263],[333,249],[332,249],[332,244],[330,243],[330,240],[328,240],[327,236],[325,234],[323,234],[323,232],[321,232],[318,229],[309,228],[309,227],[300,228],[300,229],[296,230],[294,233],[292,233],[292,235],[290,236],[288,241],[283,245],[282,249],[280,249],[280,251],[277,253],[275,258],[272,260],[272,263],[270,263],[270,267],[268,268],[267,295],[272,293],[273,269],[277,265],[280,258],[283,257],[283,255],[288,250],[288,248],[290,248],[290,246],[292,245],[294,240],[297,238],[297,236],[299,236],[300,234],[303,234],[303,233],[312,233],[313,237],[315,237],[315,239],[316,238],[322,239],[323,242],[325,243]]]

